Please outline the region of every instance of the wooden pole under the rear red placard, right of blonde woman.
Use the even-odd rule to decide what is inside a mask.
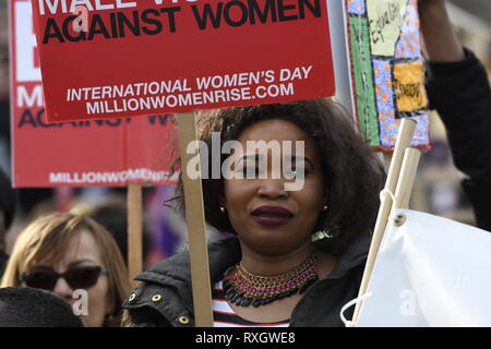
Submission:
[[[133,287],[133,278],[143,272],[143,201],[142,184],[128,185],[128,273]]]

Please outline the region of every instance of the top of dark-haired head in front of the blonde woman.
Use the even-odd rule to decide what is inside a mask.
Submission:
[[[0,327],[83,327],[62,298],[27,287],[0,288]]]

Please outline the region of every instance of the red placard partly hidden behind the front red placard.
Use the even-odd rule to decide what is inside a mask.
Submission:
[[[169,184],[178,152],[173,115],[45,122],[29,0],[11,0],[13,182],[24,186]]]

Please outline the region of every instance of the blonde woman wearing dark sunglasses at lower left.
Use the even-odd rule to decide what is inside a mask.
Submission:
[[[105,228],[88,217],[55,213],[20,234],[1,287],[49,290],[74,305],[84,326],[119,326],[120,305],[130,290],[127,275]]]

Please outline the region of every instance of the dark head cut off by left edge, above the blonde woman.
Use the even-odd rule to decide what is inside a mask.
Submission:
[[[15,217],[17,197],[12,183],[3,170],[0,169],[0,278],[9,256],[5,252],[5,236]]]

